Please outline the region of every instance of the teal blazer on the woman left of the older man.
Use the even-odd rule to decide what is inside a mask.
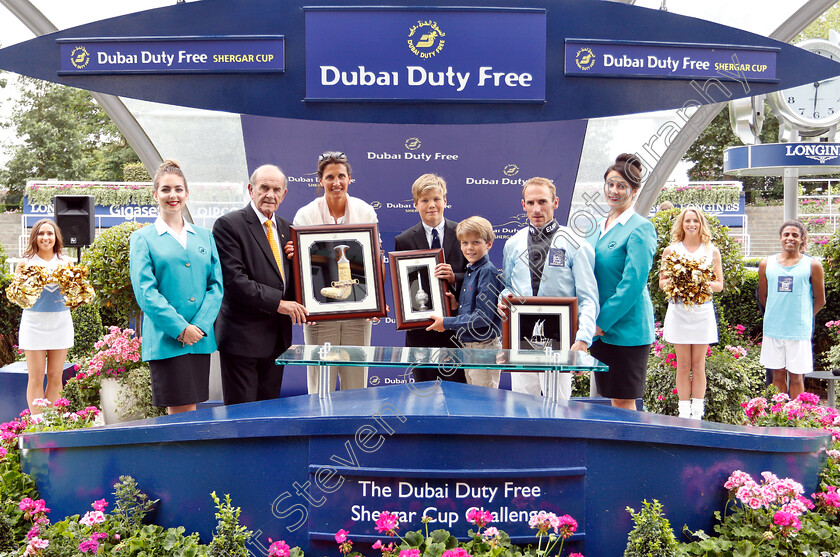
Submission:
[[[154,225],[130,240],[131,287],[143,312],[143,361],[216,350],[213,324],[222,305],[222,267],[213,234],[192,226],[187,249]],[[177,340],[193,324],[207,336],[192,346]]]

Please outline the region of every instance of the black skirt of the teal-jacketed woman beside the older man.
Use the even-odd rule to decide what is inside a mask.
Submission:
[[[210,354],[151,360],[149,372],[155,406],[183,406],[210,398]]]

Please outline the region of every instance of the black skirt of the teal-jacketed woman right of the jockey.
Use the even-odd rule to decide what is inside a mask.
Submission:
[[[589,353],[596,360],[609,366],[609,371],[593,372],[598,394],[607,398],[635,399],[645,394],[647,360],[650,344],[618,346],[598,339]]]

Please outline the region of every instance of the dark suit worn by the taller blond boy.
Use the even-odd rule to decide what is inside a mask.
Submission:
[[[452,266],[452,271],[455,273],[455,286],[450,289],[457,297],[461,290],[461,283],[464,282],[464,269],[467,266],[467,260],[464,254],[461,253],[461,244],[455,236],[455,227],[457,223],[449,219],[446,220],[443,232],[443,260]],[[406,251],[415,249],[430,249],[429,240],[426,238],[426,231],[423,229],[423,223],[419,222],[412,226],[394,239],[396,244],[396,251]],[[406,346],[425,346],[425,347],[446,347],[459,348],[455,341],[455,335],[451,331],[438,333],[435,331],[426,331],[424,329],[410,329],[405,332]],[[426,372],[431,372],[431,376],[427,377]],[[465,382],[463,379],[464,372],[457,372],[457,377],[448,377],[449,380]],[[419,376],[418,376],[419,375]],[[428,381],[437,377],[434,370],[414,370],[415,380]],[[444,379],[441,377],[441,379]]]

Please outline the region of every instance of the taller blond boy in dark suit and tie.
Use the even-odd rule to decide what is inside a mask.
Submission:
[[[420,214],[420,222],[394,239],[397,251],[443,248],[444,263],[435,267],[435,276],[445,280],[450,290],[457,295],[464,280],[467,260],[461,253],[458,238],[455,236],[457,222],[443,217],[446,208],[446,182],[435,174],[423,174],[411,186],[414,208]],[[443,333],[410,329],[405,334],[406,346],[459,348],[452,331]],[[446,370],[450,372],[450,370]],[[413,369],[415,381],[434,381],[442,379],[466,383],[463,370],[456,370],[446,375],[434,369]]]

